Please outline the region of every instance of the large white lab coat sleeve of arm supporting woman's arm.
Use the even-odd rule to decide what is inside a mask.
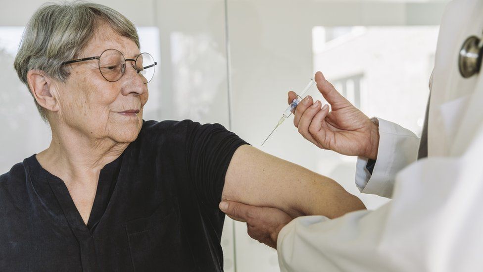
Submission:
[[[283,272],[478,271],[483,267],[483,133],[462,157],[427,158],[396,176],[375,211],[295,218],[279,233]]]

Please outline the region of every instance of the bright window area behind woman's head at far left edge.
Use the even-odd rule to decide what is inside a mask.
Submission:
[[[50,129],[41,119],[34,99],[18,79],[13,60],[24,27],[0,27],[0,173],[47,148]]]

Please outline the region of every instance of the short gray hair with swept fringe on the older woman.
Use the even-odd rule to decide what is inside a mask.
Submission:
[[[69,76],[69,68],[61,63],[74,59],[102,24],[107,24],[117,34],[127,37],[140,47],[134,24],[110,7],[74,1],[49,2],[37,9],[25,28],[13,63],[18,77],[30,93],[32,94],[32,90],[27,82],[28,71],[43,70],[47,76],[65,82]],[[37,101],[35,105],[42,119],[47,121],[46,109]]]

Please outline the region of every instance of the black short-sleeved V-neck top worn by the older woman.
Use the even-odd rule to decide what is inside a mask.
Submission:
[[[0,271],[223,271],[220,124],[145,121],[102,168],[89,222],[35,155],[0,176]]]

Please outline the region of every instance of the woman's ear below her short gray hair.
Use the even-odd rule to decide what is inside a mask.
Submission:
[[[27,82],[30,91],[37,103],[50,111],[58,111],[60,109],[55,85],[52,84],[50,78],[42,70],[30,70],[27,72]]]

